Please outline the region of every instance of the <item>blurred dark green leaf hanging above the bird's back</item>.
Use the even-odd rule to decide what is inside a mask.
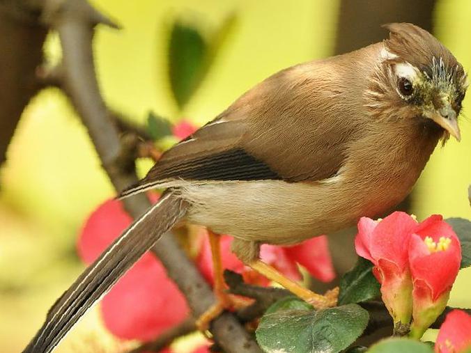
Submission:
[[[169,42],[169,78],[173,97],[182,109],[203,79],[208,45],[197,29],[175,22]]]

